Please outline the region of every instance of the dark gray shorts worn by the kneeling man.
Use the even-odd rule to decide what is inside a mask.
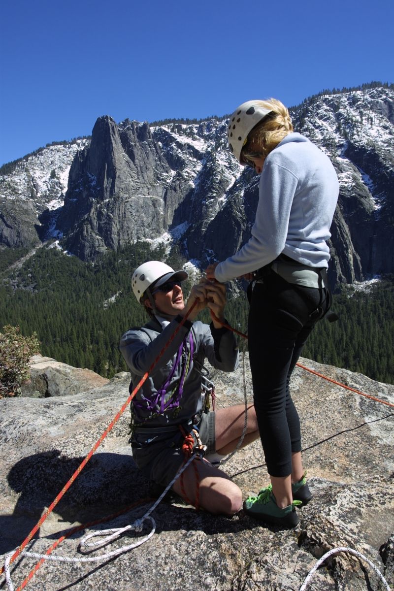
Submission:
[[[201,443],[207,446],[206,453],[216,452],[215,413],[203,413],[198,424]],[[141,430],[139,430],[141,431]],[[162,486],[167,486],[183,465],[183,435],[181,431],[170,433],[134,432],[132,453],[136,465],[145,478]]]

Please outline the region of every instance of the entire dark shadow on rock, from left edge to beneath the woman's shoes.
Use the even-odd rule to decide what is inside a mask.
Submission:
[[[14,514],[0,516],[0,530],[6,532],[0,540],[1,554],[22,543],[82,460],[83,457],[68,458],[62,456],[59,450],[51,450],[28,456],[12,467],[7,479],[9,486],[19,493],[19,498]],[[143,504],[128,511],[123,518],[116,519],[123,519],[125,525],[141,518],[151,508],[155,501],[151,492],[151,483],[141,475],[131,456],[96,453],[45,520],[40,535],[49,539],[58,538],[70,527],[108,517],[145,499]],[[211,515],[182,506],[178,503],[180,498],[170,499],[171,502],[162,501],[152,513],[157,521],[157,532],[200,530],[206,534],[230,533],[252,529],[255,525],[243,512],[235,518]],[[113,527],[113,524],[99,524],[92,529],[106,527]],[[82,535],[83,530],[73,537]]]

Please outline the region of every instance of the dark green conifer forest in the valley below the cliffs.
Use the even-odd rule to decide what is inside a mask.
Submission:
[[[95,264],[47,245],[12,268],[24,254],[0,251],[0,332],[5,324],[20,326],[25,336],[35,332],[42,355],[108,378],[127,370],[118,347],[122,333],[147,319],[131,291],[133,269],[147,259],[174,268],[185,262],[177,251],[167,256],[164,248],[152,251],[145,242],[108,251]],[[184,288],[187,294],[190,281]],[[338,320],[318,323],[302,355],[394,384],[394,277],[369,291],[343,288],[334,294],[332,311]],[[245,293],[229,294],[226,317],[246,332]],[[209,322],[207,313],[200,319]]]

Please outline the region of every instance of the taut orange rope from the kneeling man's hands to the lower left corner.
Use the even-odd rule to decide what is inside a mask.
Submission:
[[[25,548],[25,546],[32,540],[32,538],[34,537],[34,535],[40,529],[41,525],[43,525],[45,519],[48,517],[48,515],[50,515],[50,513],[53,511],[53,509],[56,507],[56,505],[60,501],[60,499],[69,490],[70,486],[73,484],[74,480],[76,480],[76,478],[80,475],[80,473],[82,472],[82,470],[86,466],[87,462],[89,462],[90,458],[96,452],[97,448],[102,444],[103,440],[106,438],[106,436],[109,434],[109,432],[115,426],[115,424],[118,422],[119,418],[121,418],[122,414],[125,412],[126,408],[130,404],[130,402],[132,401],[132,399],[135,397],[135,395],[138,392],[138,390],[142,387],[142,384],[144,384],[144,382],[148,378],[149,374],[152,372],[152,369],[155,368],[155,366],[159,362],[159,359],[161,359],[162,355],[164,354],[165,350],[168,349],[168,347],[170,346],[170,344],[174,340],[175,336],[180,331],[181,326],[183,326],[183,324],[188,319],[188,316],[190,316],[191,311],[194,309],[194,307],[196,306],[196,304],[197,304],[197,300],[194,302],[193,306],[191,306],[190,310],[187,311],[187,313],[185,314],[185,316],[183,317],[183,319],[181,320],[181,322],[179,323],[179,325],[177,326],[177,328],[172,333],[170,339],[168,339],[167,343],[165,343],[164,347],[159,352],[159,354],[158,354],[157,358],[155,359],[155,361],[152,363],[152,365],[149,367],[148,371],[145,372],[145,374],[142,376],[142,378],[140,379],[140,381],[138,382],[138,384],[136,385],[136,387],[133,389],[132,393],[129,395],[129,397],[126,400],[125,404],[122,405],[121,410],[119,410],[118,414],[116,414],[115,418],[113,418],[113,420],[110,422],[109,426],[106,428],[106,430],[100,436],[100,438],[96,441],[95,445],[92,447],[92,449],[90,450],[90,452],[87,454],[87,456],[83,459],[83,461],[77,467],[77,469],[75,470],[75,472],[73,473],[73,475],[71,476],[71,478],[69,479],[69,481],[63,486],[63,488],[58,493],[58,495],[56,496],[56,498],[51,502],[50,506],[46,509],[46,511],[44,512],[44,514],[41,515],[41,518],[39,519],[39,521],[37,522],[37,524],[35,524],[34,528],[32,528],[30,534],[28,534],[28,536],[21,543],[21,545],[19,545],[19,547],[17,548],[17,550],[15,550],[14,554],[12,554],[12,557],[11,557],[11,560],[10,560],[10,563],[9,564],[12,564],[12,562],[14,562],[15,558],[17,558],[19,556],[19,554],[22,552],[22,550]],[[36,568],[35,568],[34,572],[37,571],[38,568],[41,566],[42,561],[43,561],[43,559],[41,559],[40,562],[36,565]],[[4,572],[4,566],[1,567],[0,574],[2,574],[3,572]],[[31,576],[28,577],[28,580],[31,579]],[[25,584],[27,584],[27,582]],[[25,586],[25,584],[23,586]],[[21,587],[18,587],[17,591],[19,591],[19,589],[23,589],[23,587],[22,586]]]

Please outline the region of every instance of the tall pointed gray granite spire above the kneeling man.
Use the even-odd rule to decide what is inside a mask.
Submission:
[[[108,116],[97,119],[90,147],[71,166],[58,219],[67,249],[91,260],[107,248],[161,236],[169,177],[148,124],[126,120],[118,128]]]

